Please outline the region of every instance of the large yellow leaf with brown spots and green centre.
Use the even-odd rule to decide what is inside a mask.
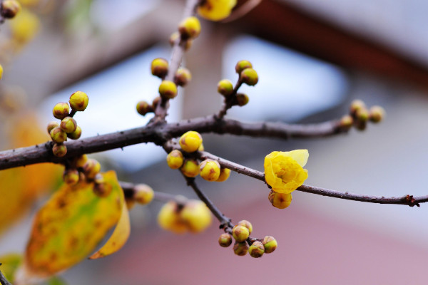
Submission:
[[[48,277],[77,264],[118,222],[123,191],[115,172],[103,177],[112,188],[107,197],[93,193],[93,182],[63,185],[39,210],[26,247],[26,276]]]

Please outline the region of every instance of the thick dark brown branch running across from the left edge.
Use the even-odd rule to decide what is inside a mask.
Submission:
[[[217,120],[215,117],[210,116],[182,120],[178,123],[158,123],[65,142],[64,144],[67,147],[67,155],[65,157],[56,157],[52,154],[52,142],[50,141],[31,147],[4,150],[0,152],[0,170],[42,162],[63,163],[66,159],[78,155],[103,152],[143,142],[163,145],[170,138],[176,138],[188,130],[195,130],[199,133],[227,133],[259,138],[281,138],[283,140],[290,138],[320,138],[347,132],[346,129],[340,127],[339,120],[312,125],[293,125],[285,123],[243,123],[226,118]]]

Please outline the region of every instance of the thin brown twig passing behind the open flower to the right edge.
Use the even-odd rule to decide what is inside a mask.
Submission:
[[[258,170],[253,170],[249,167],[239,165],[238,163],[225,160],[224,158],[212,155],[209,152],[198,152],[200,159],[210,158],[211,160],[217,160],[221,166],[229,168],[235,172],[241,173],[265,182],[265,174]],[[404,204],[410,207],[419,207],[420,203],[428,202],[428,195],[414,197],[413,195],[404,195],[402,197],[379,197],[372,195],[360,195],[350,192],[340,192],[336,190],[325,189],[322,187],[315,187],[310,185],[302,185],[296,189],[297,191],[312,193],[316,195],[322,195],[327,197],[334,197],[339,199],[347,199],[352,201],[377,203],[377,204]]]

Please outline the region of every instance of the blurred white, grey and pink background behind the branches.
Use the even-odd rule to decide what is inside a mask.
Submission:
[[[12,20],[0,31],[1,131],[21,105],[45,128],[54,104],[76,90],[90,98],[86,112],[76,115],[83,138],[145,125],[153,115],[143,118],[135,106],[157,96],[159,80],[151,76],[150,63],[170,57],[168,38],[184,2],[23,1],[36,19],[27,17],[21,30]],[[202,33],[184,61],[193,79],[171,102],[168,120],[216,113],[218,81],[236,81],[235,63],[247,59],[260,80],[242,88],[250,103],[232,109],[229,118],[316,123],[340,118],[359,98],[382,105],[387,119],[364,132],[316,140],[203,135],[205,150],[263,170],[268,153],[307,148],[307,185],[385,197],[427,195],[427,9],[428,2],[419,0],[263,0],[235,21],[201,21]],[[19,41],[11,44],[11,36]],[[10,148],[7,138],[0,142],[4,149]],[[195,197],[154,145],[92,157],[121,180]],[[83,261],[63,278],[68,284],[130,285],[427,283],[425,204],[368,204],[294,192],[291,206],[280,210],[268,202],[265,185],[249,177],[232,173],[227,182],[197,182],[233,222],[248,219],[255,237],[274,236],[277,251],[262,259],[235,256],[218,246],[217,221],[203,234],[163,232],[156,224],[162,204],[153,202],[131,211],[131,238],[120,252]],[[29,206],[30,213],[44,199]],[[0,255],[24,252],[30,229],[31,214],[4,229]]]

